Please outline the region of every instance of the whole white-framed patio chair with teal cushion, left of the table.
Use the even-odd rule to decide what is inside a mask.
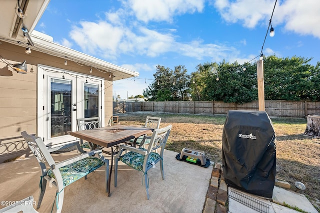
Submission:
[[[87,174],[98,169],[103,164],[105,164],[105,192],[108,191],[109,160],[103,157],[101,154],[102,150],[98,149],[82,153],[78,156],[56,163],[40,137],[29,135],[26,131],[21,132],[21,135],[26,140],[41,169],[39,184],[40,193],[36,209],[40,208],[45,193],[46,181],[49,181],[49,185],[53,185],[57,189],[55,204],[56,212],[59,213],[61,212],[63,204],[64,187],[80,178],[84,177],[86,179]],[[96,157],[94,157],[94,155]],[[49,169],[46,169],[46,164],[49,166]]]

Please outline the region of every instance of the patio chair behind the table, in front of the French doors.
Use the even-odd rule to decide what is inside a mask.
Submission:
[[[101,122],[100,122],[99,117],[78,118],[78,119],[76,119],[76,123],[77,123],[79,131],[87,130],[87,129],[95,129],[95,128],[101,127]],[[97,148],[97,146],[95,144],[92,144],[90,142],[83,143],[82,139],[80,139],[80,147],[90,149],[90,150],[94,150]]]

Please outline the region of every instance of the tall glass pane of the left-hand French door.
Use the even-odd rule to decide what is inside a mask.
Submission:
[[[51,78],[51,138],[71,132],[71,81]]]

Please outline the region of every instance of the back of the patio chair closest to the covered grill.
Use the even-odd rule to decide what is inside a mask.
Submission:
[[[170,131],[171,131],[172,125],[168,125],[166,127],[163,127],[161,129],[155,129],[153,130],[150,143],[148,144],[148,154],[158,148],[161,148],[160,156],[163,156],[163,150],[164,146],[166,144],[166,141],[169,137]]]

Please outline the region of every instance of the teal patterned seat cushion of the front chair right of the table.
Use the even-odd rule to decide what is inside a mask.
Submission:
[[[143,148],[139,148],[141,150],[146,150]],[[122,161],[123,163],[125,163],[126,165],[132,167],[133,169],[136,169],[138,171],[142,171],[142,167],[143,167],[143,161],[144,161],[144,155],[141,155],[139,153],[136,152],[128,152],[125,153],[124,155],[119,157],[119,160]],[[158,153],[156,152],[151,152],[149,155],[149,159],[147,162],[147,167],[152,165],[152,162],[157,162],[157,160],[159,160],[161,157]]]

